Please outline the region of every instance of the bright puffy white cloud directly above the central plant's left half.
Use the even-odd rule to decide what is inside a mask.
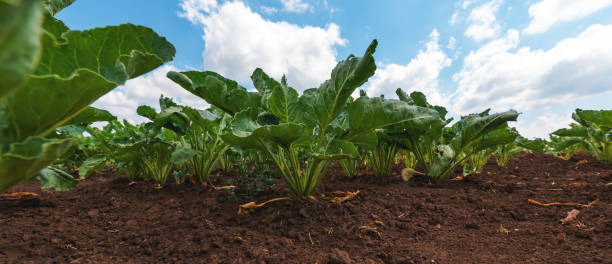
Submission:
[[[320,28],[272,22],[242,2],[225,2],[208,13],[184,11],[204,28],[204,68],[244,84],[260,67],[277,79],[287,74],[298,90],[318,86],[336,65],[334,46],[346,43],[336,24]]]

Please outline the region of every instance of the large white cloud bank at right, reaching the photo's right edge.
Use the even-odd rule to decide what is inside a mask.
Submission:
[[[547,109],[610,91],[612,25],[592,25],[549,50],[518,44],[518,31],[509,30],[465,57],[453,76],[455,112]]]

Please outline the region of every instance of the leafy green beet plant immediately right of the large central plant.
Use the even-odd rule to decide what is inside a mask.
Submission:
[[[390,140],[412,152],[429,177],[447,178],[460,164],[467,167],[466,174],[478,171],[496,146],[513,142],[518,136],[507,128],[507,122],[518,117],[514,110],[496,114],[485,110],[447,127],[452,119],[446,119],[444,107],[430,105],[420,92],[407,95],[398,89],[396,93],[403,102],[437,113],[437,119],[386,129]]]

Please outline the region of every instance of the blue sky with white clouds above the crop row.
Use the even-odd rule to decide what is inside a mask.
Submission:
[[[612,0],[77,0],[58,18],[77,30],[140,24],[175,45],[172,63],[95,103],[133,122],[161,93],[206,106],[168,70],[214,70],[252,87],[262,67],[301,91],[374,38],[378,70],[362,87],[371,96],[419,90],[455,116],[516,109],[528,137],[567,126],[575,108],[612,108]]]

